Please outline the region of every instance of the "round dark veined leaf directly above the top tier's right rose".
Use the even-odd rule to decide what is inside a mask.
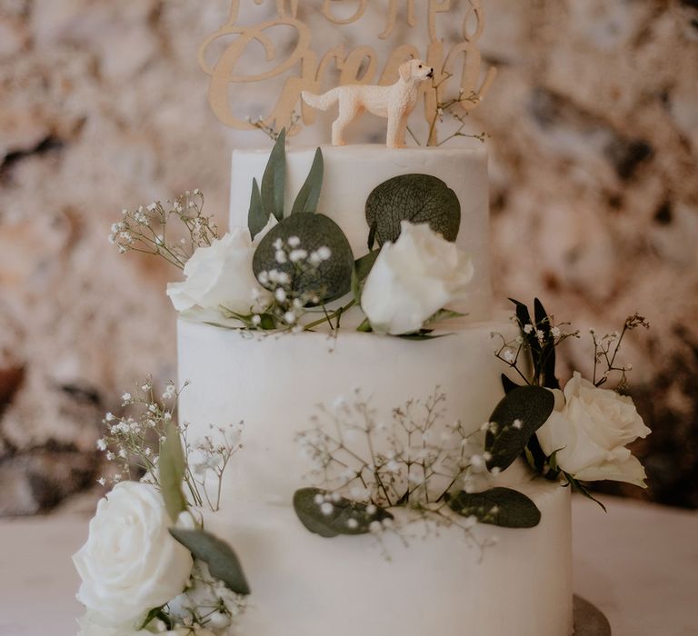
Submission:
[[[455,241],[461,225],[461,204],[454,191],[430,174],[401,174],[380,184],[366,201],[366,222],[371,228],[369,249],[394,243],[400,236],[400,224],[424,224]]]

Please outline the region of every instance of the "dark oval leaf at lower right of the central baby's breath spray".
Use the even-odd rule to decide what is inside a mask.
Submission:
[[[476,517],[481,523],[503,528],[533,528],[541,521],[538,510],[523,492],[511,488],[491,488],[484,492],[450,495],[447,502],[452,511],[464,517]]]

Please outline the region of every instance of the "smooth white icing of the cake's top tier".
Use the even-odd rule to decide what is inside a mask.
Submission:
[[[461,227],[456,244],[470,253],[475,274],[466,303],[453,308],[470,320],[490,316],[489,207],[487,152],[474,148],[386,148],[384,145],[322,146],[323,191],[318,211],[344,230],[359,258],[368,252],[365,204],[374,188],[398,174],[432,174],[454,190],[461,203]],[[270,150],[233,152],[230,224],[246,225],[253,177],[260,183]],[[304,184],[314,148],[286,148],[286,213]]]

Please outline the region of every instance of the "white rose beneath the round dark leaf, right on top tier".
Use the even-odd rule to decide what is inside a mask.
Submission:
[[[428,224],[402,223],[366,279],[361,306],[374,331],[413,333],[434,313],[464,297],[473,263]]]

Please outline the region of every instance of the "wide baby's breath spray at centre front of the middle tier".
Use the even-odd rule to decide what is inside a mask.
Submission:
[[[445,423],[445,400],[437,387],[424,402],[394,409],[390,423],[359,391],[353,402],[338,398],[331,407],[318,407],[314,427],[297,442],[312,462],[310,476],[328,493],[325,503],[345,497],[368,504],[369,513],[371,506],[408,508],[418,518],[462,528],[484,547],[487,540],[471,534],[476,520],[455,518],[446,505],[448,493],[468,489],[471,476],[485,470],[487,457],[469,448],[480,430]]]

